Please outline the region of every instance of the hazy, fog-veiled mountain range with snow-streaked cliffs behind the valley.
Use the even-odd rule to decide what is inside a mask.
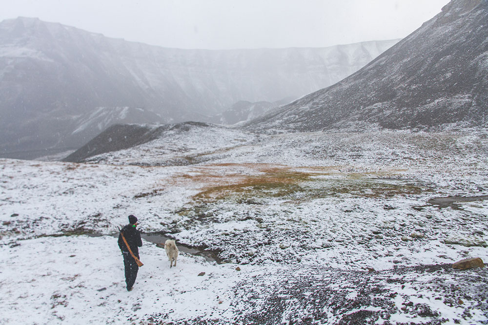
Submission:
[[[210,121],[240,100],[303,96],[357,71],[395,42],[180,50],[39,19],[5,20],[0,155],[35,157],[42,153],[20,152],[79,148],[114,123]],[[103,121],[90,120],[101,117],[100,108]],[[123,110],[133,114],[120,118]]]

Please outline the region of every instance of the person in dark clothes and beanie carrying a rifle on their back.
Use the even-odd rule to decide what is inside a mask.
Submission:
[[[137,227],[137,218],[134,215],[129,215],[129,224],[122,227],[119,233],[119,248],[123,255],[123,265],[125,269],[125,283],[127,285],[127,291],[132,290],[134,282],[136,282],[137,271],[139,270],[138,263],[142,265],[140,261],[136,261],[132,254],[139,259],[139,248],[142,246],[141,233]],[[125,242],[124,242],[125,238]],[[127,248],[129,246],[131,252]]]

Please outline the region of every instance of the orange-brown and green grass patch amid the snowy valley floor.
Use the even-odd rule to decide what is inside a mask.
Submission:
[[[266,198],[291,202],[349,194],[356,197],[391,197],[422,192],[412,181],[379,179],[389,172],[341,172],[344,166],[290,167],[273,164],[214,164],[195,167],[171,182],[198,190],[192,200],[211,203],[230,200],[259,204]],[[188,184],[191,183],[191,184]]]

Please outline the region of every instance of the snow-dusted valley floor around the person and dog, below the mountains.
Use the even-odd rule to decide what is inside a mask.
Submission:
[[[487,271],[448,265],[488,261],[486,130],[197,131],[1,159],[0,323],[488,324]],[[126,292],[128,214],[226,263],[144,241]]]

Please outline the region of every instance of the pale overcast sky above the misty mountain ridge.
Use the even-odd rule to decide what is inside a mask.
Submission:
[[[404,38],[448,0],[0,0],[0,20],[37,17],[185,49],[325,47]]]

